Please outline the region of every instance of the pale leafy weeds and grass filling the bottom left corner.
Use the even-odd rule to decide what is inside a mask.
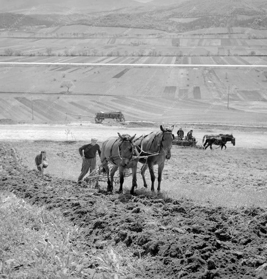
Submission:
[[[87,274],[90,256],[76,247],[79,228],[68,225],[61,213],[1,193],[0,216],[2,278],[82,278]]]

